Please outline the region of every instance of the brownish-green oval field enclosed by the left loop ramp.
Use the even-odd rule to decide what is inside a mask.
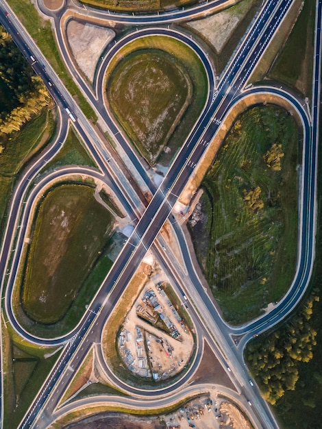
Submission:
[[[34,321],[55,323],[65,315],[112,233],[114,219],[93,192],[58,186],[38,209],[22,291]]]

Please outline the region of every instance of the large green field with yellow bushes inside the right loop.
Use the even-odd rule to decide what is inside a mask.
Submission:
[[[274,143],[282,145],[280,170],[277,164],[268,167]],[[298,146],[295,122],[286,111],[251,108],[238,117],[203,180],[205,220],[192,228],[193,241],[231,323],[259,315],[293,280]]]

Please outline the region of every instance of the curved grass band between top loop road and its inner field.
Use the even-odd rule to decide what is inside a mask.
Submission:
[[[149,50],[149,51],[147,51]],[[169,56],[171,58],[171,62],[176,66],[177,69],[183,70],[185,75],[190,79],[190,82],[193,84],[193,95],[190,102],[190,106],[186,110],[184,117],[179,122],[179,125],[173,130],[167,146],[170,151],[168,153],[161,151],[160,156],[157,159],[157,162],[168,165],[173,156],[176,154],[177,150],[182,146],[184,140],[192,130],[195,121],[199,117],[201,110],[206,102],[206,97],[208,94],[208,81],[206,77],[206,72],[203,69],[203,65],[199,58],[195,55],[195,53],[182,42],[178,42],[169,37],[164,36],[150,36],[141,38],[132,43],[129,43],[126,47],[121,49],[114,60],[112,60],[110,67],[107,71],[107,82],[108,79],[113,73],[114,68],[117,66],[116,64],[121,61],[126,56],[132,54],[135,56],[135,51],[144,51],[151,52],[155,51],[161,53],[161,58],[166,58],[169,60]],[[159,54],[160,55],[160,54]],[[156,82],[157,83],[157,82]],[[143,88],[146,86],[147,82],[141,83],[141,92],[143,92]],[[153,93],[151,94],[151,100],[153,101]],[[132,110],[135,109],[136,106],[132,107]],[[136,112],[134,111],[134,114]],[[122,123],[123,126],[129,126],[126,123]],[[164,126],[164,134],[166,135],[166,127]],[[139,148],[140,150],[140,148]],[[159,151],[159,148],[156,148]],[[158,153],[158,152],[157,152]],[[149,159],[155,160],[157,153],[150,153]]]

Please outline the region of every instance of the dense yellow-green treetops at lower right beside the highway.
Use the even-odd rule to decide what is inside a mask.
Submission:
[[[317,344],[317,331],[310,323],[315,301],[319,301],[319,297],[312,295],[296,317],[247,347],[247,363],[258,380],[263,397],[271,404],[275,404],[286,390],[295,389],[299,378],[298,363],[312,359],[312,348]]]

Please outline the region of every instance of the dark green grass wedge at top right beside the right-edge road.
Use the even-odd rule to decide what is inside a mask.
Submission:
[[[293,31],[269,71],[271,79],[296,86],[307,96],[312,87],[314,19],[314,1],[304,1]]]

